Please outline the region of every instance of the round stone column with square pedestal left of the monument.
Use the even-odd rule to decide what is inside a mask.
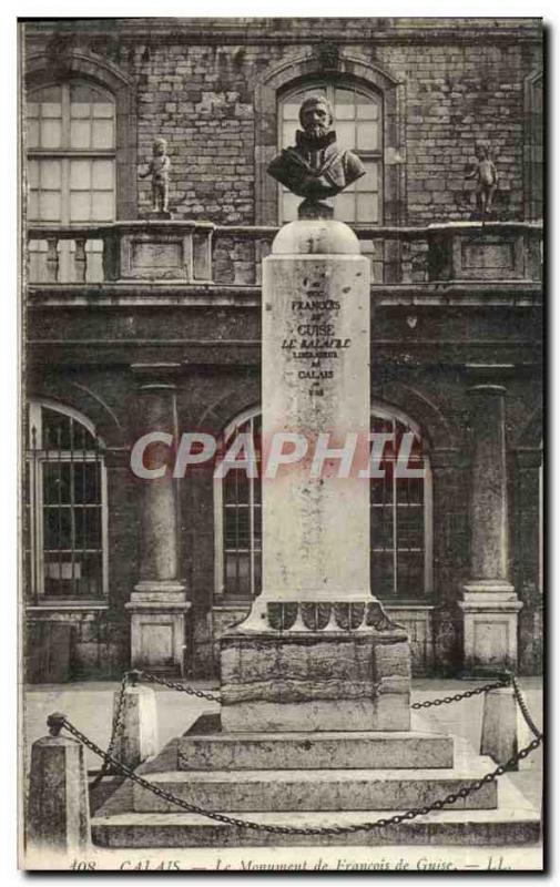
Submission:
[[[175,367],[139,367],[140,422],[138,437],[151,431],[176,439]],[[179,578],[179,520],[173,446],[150,445],[146,468],[167,466],[157,479],[139,479],[141,486],[140,581],[130,602],[131,664],[146,671],[183,674],[185,616],[191,604]]]

